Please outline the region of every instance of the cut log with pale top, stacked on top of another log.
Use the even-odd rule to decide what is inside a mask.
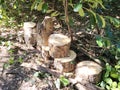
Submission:
[[[53,58],[67,57],[71,39],[63,34],[52,34],[49,37],[50,56]]]

